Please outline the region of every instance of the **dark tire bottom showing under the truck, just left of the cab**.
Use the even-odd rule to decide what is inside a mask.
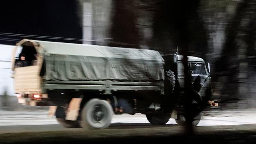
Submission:
[[[148,122],[152,125],[165,125],[171,118],[170,113],[165,114],[146,114]]]

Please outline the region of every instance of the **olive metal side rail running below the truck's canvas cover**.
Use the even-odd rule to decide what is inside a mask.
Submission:
[[[45,81],[43,89],[69,90],[105,90],[104,94],[111,94],[112,90],[154,90],[163,93],[163,81],[159,82],[128,82],[128,81]]]

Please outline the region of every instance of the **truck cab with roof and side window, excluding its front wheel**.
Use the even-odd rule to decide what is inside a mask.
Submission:
[[[184,89],[184,65],[182,63],[183,55],[173,54],[173,55],[162,55],[165,60],[165,71],[172,70],[178,83],[180,90]],[[192,85],[195,84],[195,80],[199,78],[200,88],[198,89],[198,94],[202,98],[209,98],[211,91],[211,77],[210,77],[210,64],[205,63],[200,57],[188,56],[187,63],[189,66],[189,74],[191,74]],[[177,86],[177,85],[176,85]],[[175,86],[175,87],[176,87]]]

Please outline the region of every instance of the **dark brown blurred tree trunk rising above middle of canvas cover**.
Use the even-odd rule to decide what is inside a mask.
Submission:
[[[109,46],[139,48],[139,32],[134,14],[135,0],[113,1],[112,41]]]

